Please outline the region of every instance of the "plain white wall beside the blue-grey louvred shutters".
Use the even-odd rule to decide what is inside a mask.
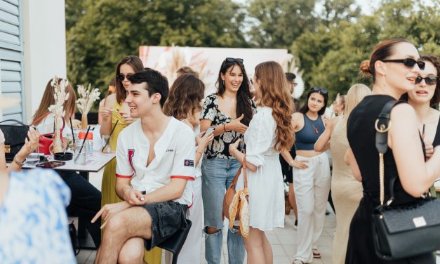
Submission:
[[[22,0],[25,57],[25,121],[39,107],[49,79],[65,78],[66,32],[64,0]]]

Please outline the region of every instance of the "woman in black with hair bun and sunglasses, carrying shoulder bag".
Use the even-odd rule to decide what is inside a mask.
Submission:
[[[349,231],[345,263],[435,263],[427,253],[400,260],[382,260],[375,254],[371,213],[379,202],[379,156],[375,149],[375,120],[390,100],[415,88],[415,80],[425,63],[406,39],[388,39],[375,47],[371,59],[361,64],[362,72],[373,76],[373,95],[357,105],[347,122],[350,148],[347,160],[354,177],[362,181],[364,197],[354,213]],[[440,174],[440,147],[425,162],[418,120],[413,107],[396,105],[391,112],[388,151],[384,155],[385,200],[389,198],[389,180],[394,183],[392,206],[414,202],[429,189]]]

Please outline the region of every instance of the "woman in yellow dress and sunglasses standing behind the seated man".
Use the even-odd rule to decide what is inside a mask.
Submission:
[[[105,98],[104,106],[100,108],[99,114],[102,121],[100,133],[101,136],[110,135],[113,130],[109,140],[109,145],[113,151],[116,150],[119,133],[121,133],[126,126],[135,121],[130,117],[130,107],[125,103],[126,87],[130,84],[127,76],[143,70],[144,65],[142,64],[142,60],[137,56],[129,55],[122,59],[118,65],[116,65],[115,92]],[[101,207],[105,206],[105,204],[121,202],[121,199],[119,199],[115,191],[115,173],[116,159],[113,159],[105,166],[102,175]],[[161,263],[161,250],[159,248],[155,248],[152,251],[145,251],[144,256],[144,260],[147,261],[147,263]]]

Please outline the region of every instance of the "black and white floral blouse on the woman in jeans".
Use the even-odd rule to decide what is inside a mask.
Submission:
[[[251,101],[252,111],[255,114],[257,107],[255,102]],[[231,122],[233,119],[218,110],[218,97],[215,93],[206,96],[204,105],[201,109],[200,119],[208,119],[212,121],[211,126],[222,126]],[[221,158],[221,159],[235,159],[229,154],[229,144],[234,143],[236,139],[243,138],[241,133],[236,131],[227,131],[214,137],[214,140],[206,147],[206,159]]]

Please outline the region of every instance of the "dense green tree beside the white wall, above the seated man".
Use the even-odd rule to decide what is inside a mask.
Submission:
[[[67,70],[73,84],[91,82],[103,90],[117,62],[137,55],[141,45],[248,46],[241,33],[244,14],[231,0],[84,0],[83,4],[77,20],[69,15],[79,11],[66,13],[66,19],[73,21],[67,30]]]

